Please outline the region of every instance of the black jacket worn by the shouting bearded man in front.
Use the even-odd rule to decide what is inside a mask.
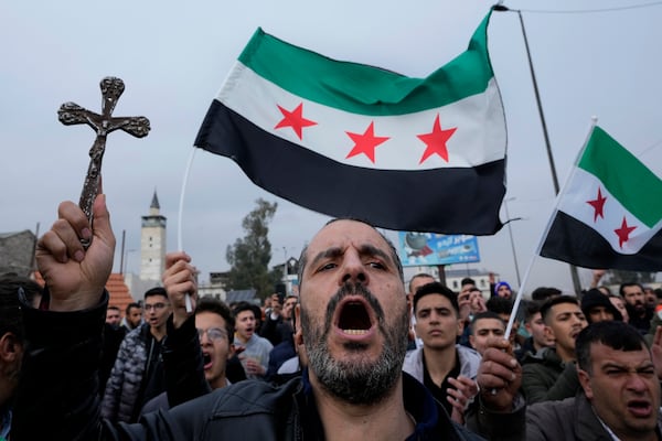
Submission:
[[[242,381],[153,412],[139,423],[99,417],[98,361],[108,294],[87,311],[24,305],[28,347],[14,408],[12,441],[318,440],[323,430],[306,376],[280,387]],[[451,422],[423,385],[406,374],[404,400],[416,419],[412,440],[480,440]],[[366,433],[366,439],[370,433]]]

